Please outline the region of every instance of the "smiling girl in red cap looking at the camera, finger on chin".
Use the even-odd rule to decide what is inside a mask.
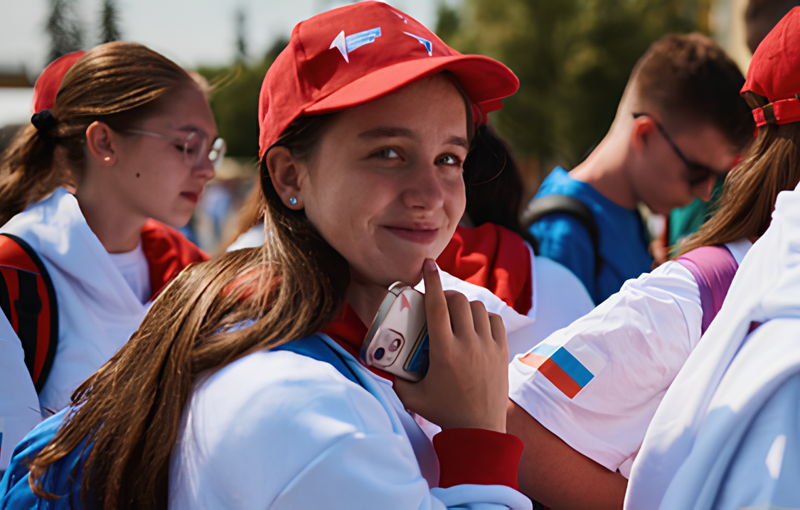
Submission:
[[[530,508],[502,321],[443,293],[434,265],[464,210],[473,109],[517,86],[382,2],[296,26],[259,102],[267,242],[173,281],[18,445],[2,504]],[[389,285],[423,277],[430,369],[393,384],[351,352]],[[406,409],[443,432],[431,443]]]

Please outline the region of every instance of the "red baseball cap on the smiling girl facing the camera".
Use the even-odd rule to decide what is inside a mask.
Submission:
[[[484,111],[517,91],[506,66],[462,55],[422,23],[383,2],[358,2],[298,23],[267,71],[258,98],[259,157],[295,118],[328,114],[380,98],[448,70]]]

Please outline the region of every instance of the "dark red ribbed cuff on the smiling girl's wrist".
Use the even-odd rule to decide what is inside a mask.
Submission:
[[[525,445],[517,436],[482,428],[448,428],[434,436],[439,487],[506,485],[518,490],[517,471]]]

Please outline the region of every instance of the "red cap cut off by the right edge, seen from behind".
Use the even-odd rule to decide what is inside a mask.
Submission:
[[[770,104],[753,110],[756,124],[800,121],[800,7],[794,7],[758,45],[742,95],[763,96]]]

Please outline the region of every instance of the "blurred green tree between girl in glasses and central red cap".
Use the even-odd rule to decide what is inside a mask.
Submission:
[[[258,93],[266,70],[287,44],[286,40],[275,42],[262,61],[252,66],[237,62],[233,66],[198,69],[214,89],[211,110],[219,136],[228,145],[228,156],[258,157]]]

